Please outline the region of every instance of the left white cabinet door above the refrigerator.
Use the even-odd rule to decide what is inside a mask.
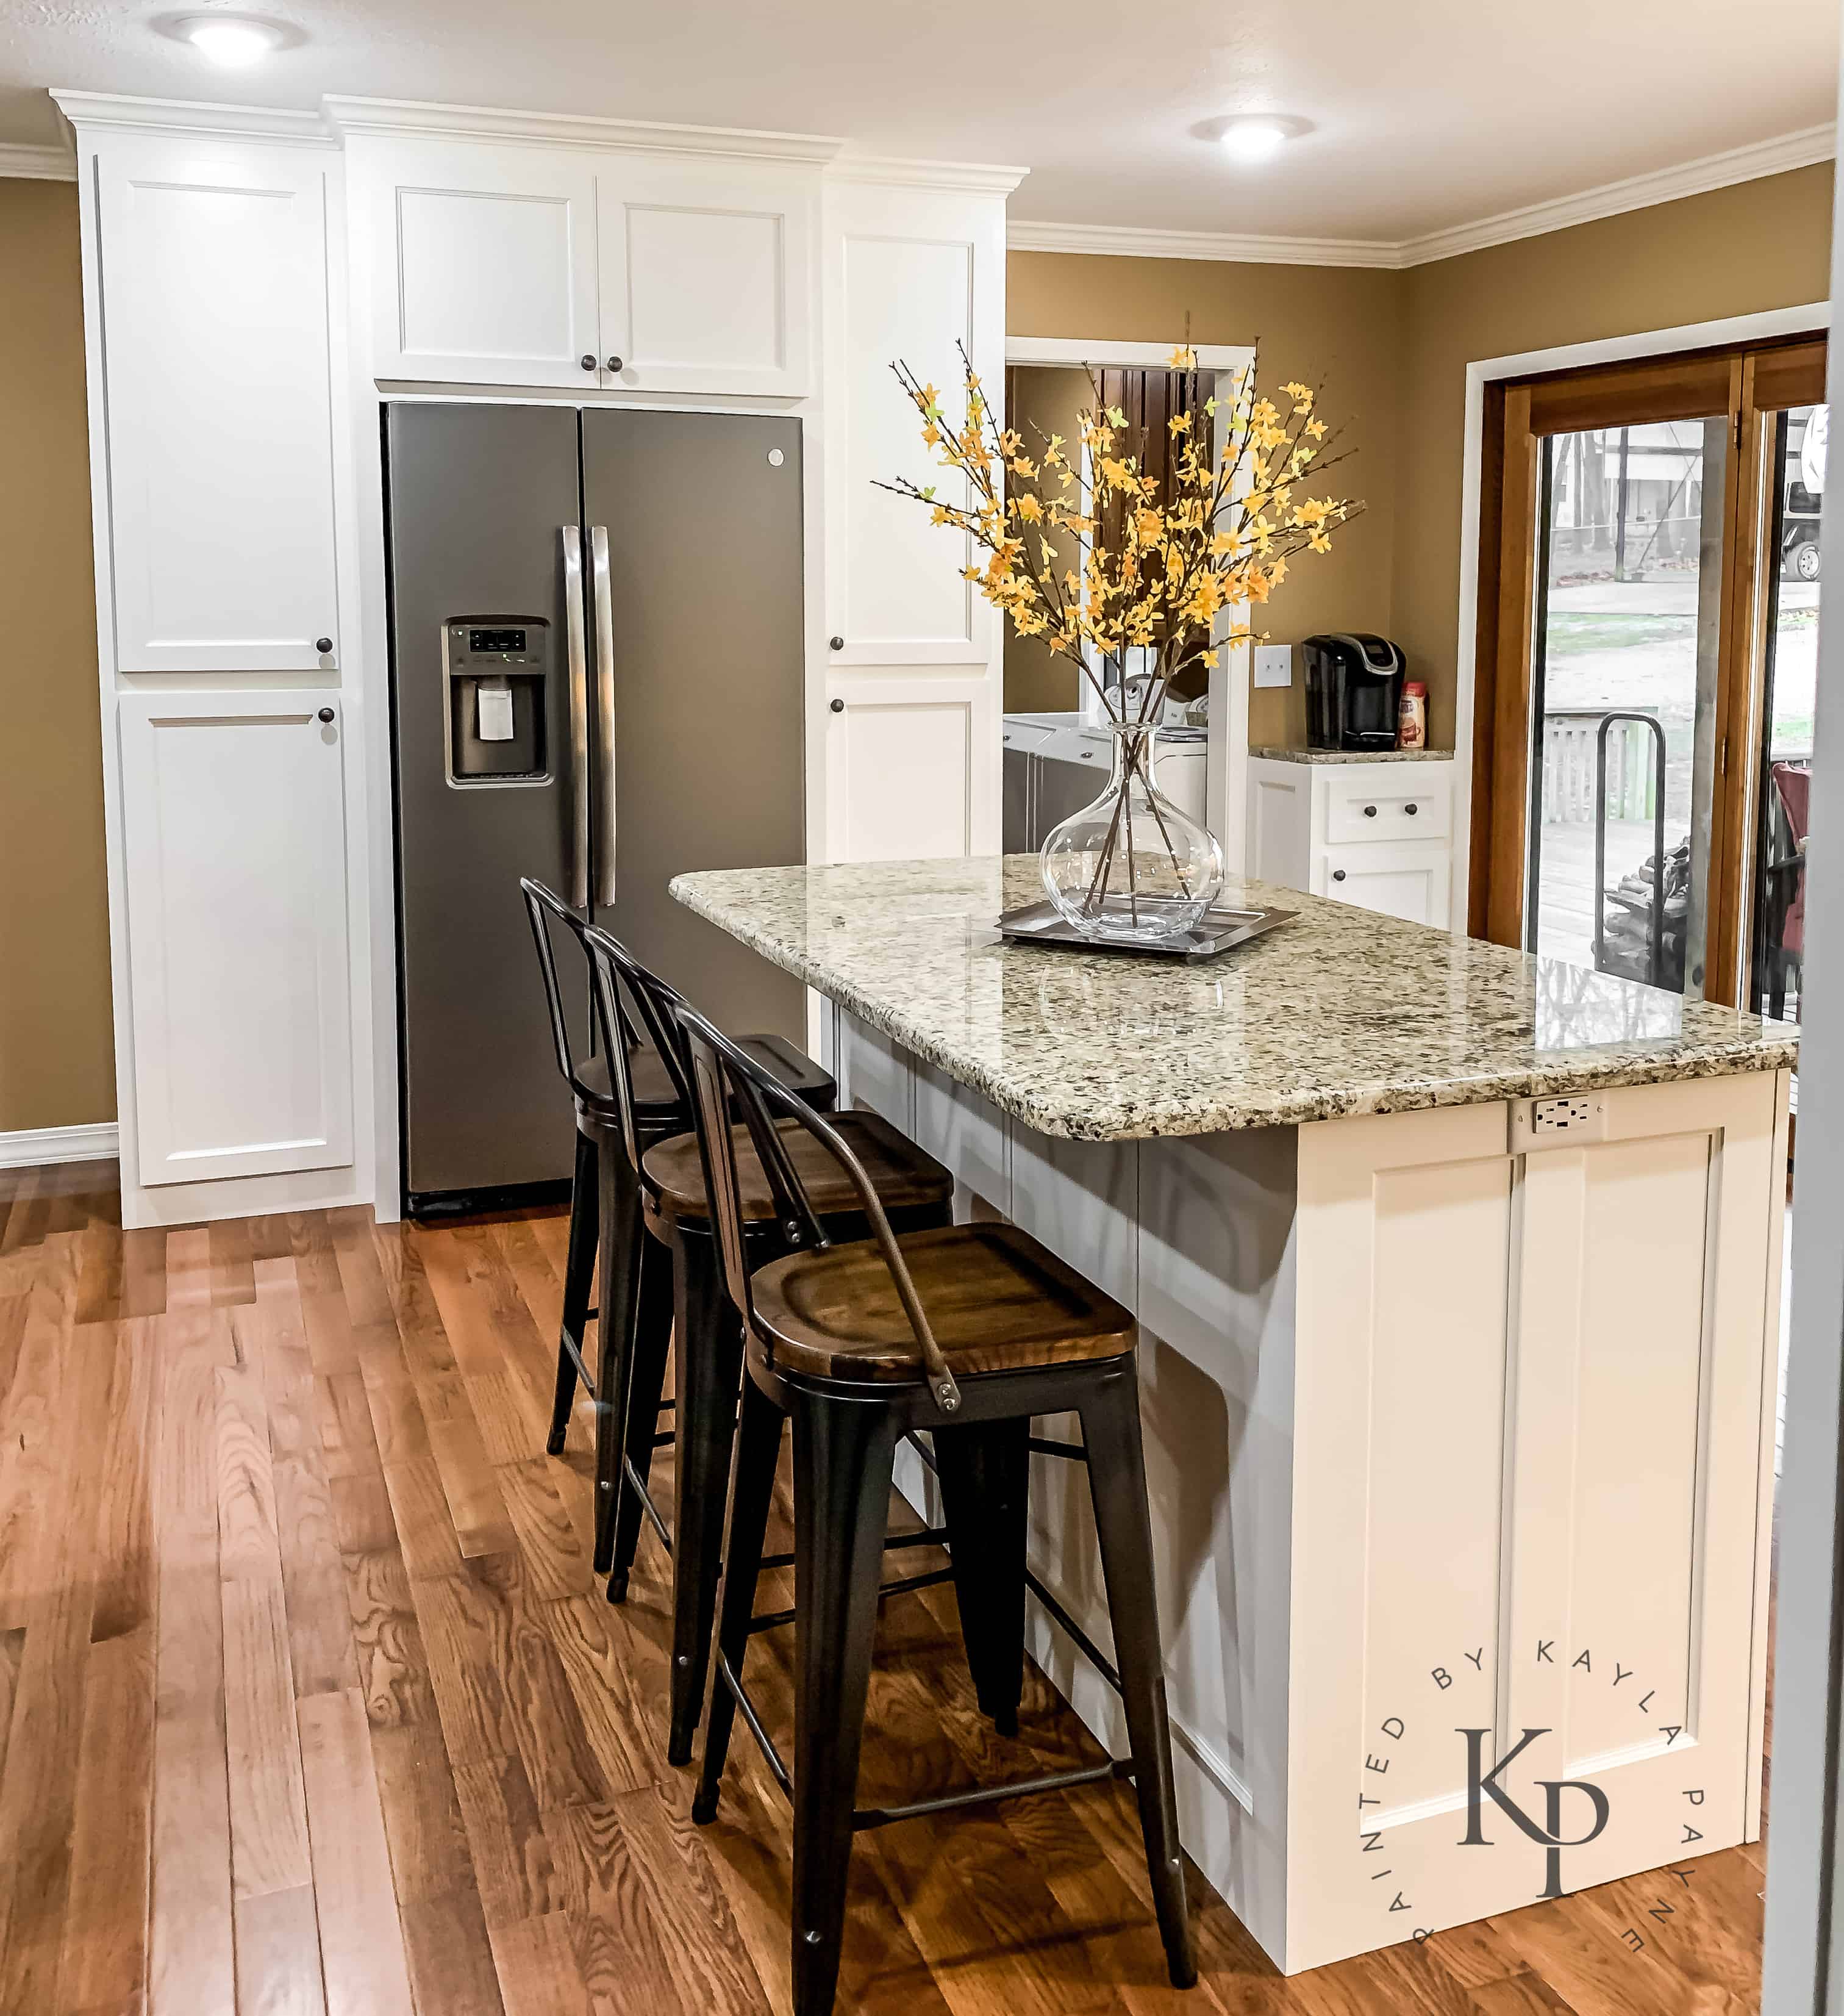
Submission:
[[[548,147],[351,143],[381,379],[597,385],[595,163]]]

